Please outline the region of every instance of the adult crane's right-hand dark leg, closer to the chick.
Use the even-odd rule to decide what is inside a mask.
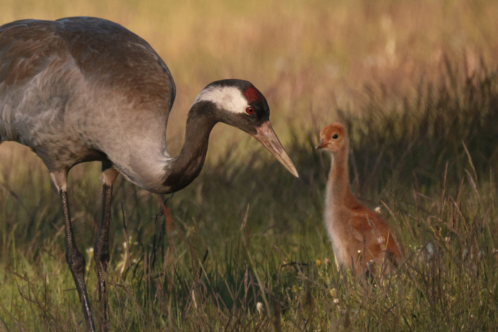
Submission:
[[[111,199],[113,184],[118,177],[118,172],[108,163],[102,163],[102,217],[99,233],[94,246],[95,267],[99,277],[99,302],[102,310],[102,331],[107,331],[107,302],[105,274],[109,264],[109,220],[111,219]]]

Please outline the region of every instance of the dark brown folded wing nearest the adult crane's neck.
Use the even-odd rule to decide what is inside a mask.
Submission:
[[[55,22],[59,23],[57,33],[88,81],[115,88],[136,102],[151,103],[167,112],[167,120],[175,100],[175,83],[164,61],[145,40],[101,18],[67,17]]]

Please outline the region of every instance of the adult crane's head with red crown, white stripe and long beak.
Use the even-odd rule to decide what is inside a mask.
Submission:
[[[299,177],[271,127],[266,99],[249,81],[231,79],[213,82],[201,91],[194,101],[196,103],[211,104],[216,121],[230,124],[252,135],[289,172]]]

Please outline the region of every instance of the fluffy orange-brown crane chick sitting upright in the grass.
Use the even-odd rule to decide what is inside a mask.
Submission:
[[[339,267],[356,272],[373,272],[387,266],[384,259],[397,263],[401,253],[392,232],[380,217],[352,195],[348,178],[348,136],[340,123],[320,131],[317,149],[332,157],[325,198],[325,225]]]

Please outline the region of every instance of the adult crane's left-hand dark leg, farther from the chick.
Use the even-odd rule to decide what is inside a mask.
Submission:
[[[81,254],[76,246],[73,236],[73,226],[71,224],[71,215],[69,214],[69,201],[67,197],[67,170],[61,170],[50,173],[55,186],[59,190],[62,200],[62,210],[64,213],[64,228],[66,231],[66,261],[73,275],[78,295],[80,296],[83,314],[87,330],[95,332],[95,325],[92,318],[92,309],[88,300],[87,286],[85,285],[85,257]]]

